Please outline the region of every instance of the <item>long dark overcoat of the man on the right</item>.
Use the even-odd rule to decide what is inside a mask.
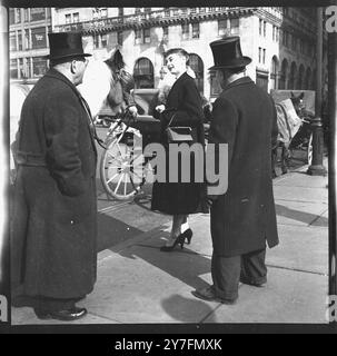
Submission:
[[[228,188],[212,197],[211,237],[219,256],[278,244],[271,181],[277,137],[271,98],[250,78],[231,82],[214,103],[209,142],[228,144]]]

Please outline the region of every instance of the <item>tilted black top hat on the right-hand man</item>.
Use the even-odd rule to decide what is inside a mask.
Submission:
[[[251,58],[242,56],[238,36],[222,38],[209,46],[215,60],[215,66],[210,67],[210,70],[246,67],[251,62]]]

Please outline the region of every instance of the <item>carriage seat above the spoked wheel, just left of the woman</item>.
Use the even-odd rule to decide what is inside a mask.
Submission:
[[[158,103],[159,89],[133,89],[131,91],[138,109],[138,120],[153,121],[157,120],[155,110]]]

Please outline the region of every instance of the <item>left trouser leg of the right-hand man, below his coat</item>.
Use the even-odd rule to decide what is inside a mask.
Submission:
[[[214,291],[218,298],[235,300],[238,298],[241,256],[224,257],[216,254],[211,257],[211,277]]]

